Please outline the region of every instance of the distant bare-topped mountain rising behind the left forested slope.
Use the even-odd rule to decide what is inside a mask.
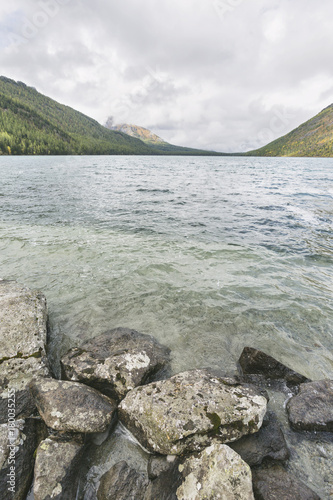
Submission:
[[[149,145],[157,154],[196,156],[209,154],[216,156],[228,156],[226,153],[215,153],[214,151],[207,152],[205,150],[186,148],[184,146],[174,146],[173,144],[164,141],[164,139],[161,139],[161,137],[154,134],[147,128],[139,127],[138,125],[131,125],[128,123],[113,125],[113,118],[111,116],[107,119],[105,127],[110,130],[117,130],[118,132],[123,132],[131,137],[141,139],[141,141]]]

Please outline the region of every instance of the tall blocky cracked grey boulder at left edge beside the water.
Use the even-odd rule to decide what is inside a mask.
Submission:
[[[16,418],[35,411],[28,385],[48,377],[45,354],[46,299],[14,281],[0,280],[0,423],[7,421],[9,395],[15,392]]]

